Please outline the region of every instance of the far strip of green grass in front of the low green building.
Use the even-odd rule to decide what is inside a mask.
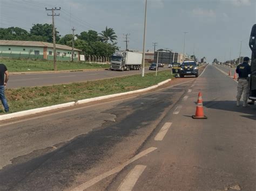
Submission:
[[[0,59],[0,63],[4,63],[9,72],[38,72],[52,71],[53,61],[48,60],[9,60]],[[68,62],[57,61],[58,70],[79,70],[79,69],[95,69],[109,68],[109,64],[97,64],[87,62]]]

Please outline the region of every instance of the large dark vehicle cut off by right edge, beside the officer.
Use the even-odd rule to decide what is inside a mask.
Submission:
[[[249,99],[256,100],[256,24],[253,25],[251,36],[249,40],[249,46],[252,50],[251,69],[252,74],[250,76],[250,94]]]

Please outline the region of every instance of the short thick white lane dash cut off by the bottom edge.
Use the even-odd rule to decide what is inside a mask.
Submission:
[[[145,168],[145,165],[136,165],[120,184],[118,191],[131,191]]]

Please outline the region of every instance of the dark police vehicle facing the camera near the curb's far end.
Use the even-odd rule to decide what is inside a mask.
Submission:
[[[184,77],[185,75],[195,75],[198,77],[198,66],[195,61],[184,61],[181,63],[180,77]]]

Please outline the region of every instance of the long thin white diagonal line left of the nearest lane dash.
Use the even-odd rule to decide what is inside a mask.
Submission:
[[[122,171],[122,169],[125,166],[131,164],[133,161],[136,161],[139,158],[142,158],[144,155],[149,154],[149,153],[151,153],[152,151],[154,151],[156,149],[157,149],[156,147],[147,148],[145,151],[140,152],[139,154],[132,157],[130,160],[126,161],[124,164],[119,165],[116,168],[113,168],[112,170],[110,170],[108,172],[100,174],[100,175],[96,176],[95,178],[93,178],[93,179],[91,179],[91,180],[83,183],[82,185],[80,185],[80,186],[78,186],[74,189],[71,189],[71,190],[73,190],[73,191],[85,190],[85,189],[91,187],[92,185],[95,185],[95,183],[99,182],[100,180],[103,180],[103,179],[107,178],[108,176],[110,176],[112,174],[115,174],[115,173],[118,173],[118,172]]]

